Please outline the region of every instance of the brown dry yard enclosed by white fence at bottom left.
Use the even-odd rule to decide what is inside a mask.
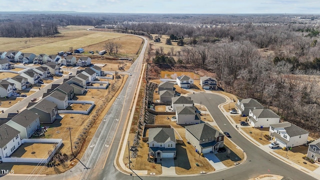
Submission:
[[[11,156],[25,158],[46,158],[49,151],[53,150],[54,143],[23,143]]]

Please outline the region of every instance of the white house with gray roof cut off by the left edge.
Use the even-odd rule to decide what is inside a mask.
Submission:
[[[5,123],[0,126],[0,137],[0,161],[2,161],[2,157],[10,156],[22,143],[20,131]]]

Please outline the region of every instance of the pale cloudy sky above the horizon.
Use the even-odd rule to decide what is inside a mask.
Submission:
[[[1,0],[1,6],[7,8],[0,11],[320,13],[318,0]]]

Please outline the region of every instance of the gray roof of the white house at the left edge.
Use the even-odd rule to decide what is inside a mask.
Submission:
[[[10,142],[20,131],[15,128],[2,124],[0,126],[0,148],[4,147],[8,142]]]

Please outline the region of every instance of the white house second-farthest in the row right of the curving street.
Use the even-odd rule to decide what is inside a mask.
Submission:
[[[253,127],[269,127],[269,124],[279,123],[280,116],[271,109],[253,109],[249,110],[247,120]]]

